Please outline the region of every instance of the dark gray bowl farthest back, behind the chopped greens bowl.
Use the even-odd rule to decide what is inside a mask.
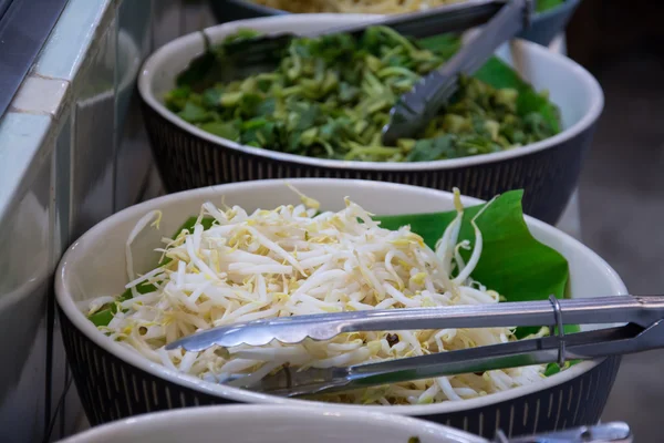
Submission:
[[[580,2],[581,0],[567,0],[558,8],[537,13],[530,28],[521,32],[519,38],[548,45],[567,27]],[[209,4],[219,23],[290,13],[246,0],[209,0]]]

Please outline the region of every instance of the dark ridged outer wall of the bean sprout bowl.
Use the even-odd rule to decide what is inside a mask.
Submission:
[[[230,404],[152,375],[102,349],[60,310],[62,337],[74,382],[90,423],[100,425],[142,413],[177,408]],[[557,387],[470,411],[421,415],[492,439],[497,429],[508,436],[595,424],[615,380],[620,358]]]

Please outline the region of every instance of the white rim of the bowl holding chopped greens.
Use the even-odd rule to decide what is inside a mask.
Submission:
[[[376,172],[418,172],[418,171],[444,171],[453,168],[461,168],[469,166],[477,166],[487,163],[496,163],[508,161],[511,158],[527,156],[535,154],[540,151],[544,151],[554,146],[558,146],[569,140],[574,138],[583,131],[591,127],[604,106],[604,94],[599,82],[594,76],[582,68],[577,62],[568,59],[567,56],[552,53],[548,48],[541,47],[536,43],[531,43],[525,40],[512,41],[512,48],[528,51],[539,56],[550,58],[556,61],[559,65],[563,66],[564,70],[569,71],[580,83],[583,83],[584,89],[590,92],[590,105],[588,112],[573,125],[564,128],[559,134],[543,141],[520,146],[519,148],[501,151],[490,154],[480,154],[460,158],[450,159],[437,159],[428,162],[357,162],[357,161],[341,161],[341,159],[328,159],[328,158],[315,158],[307,157],[303,155],[281,153],[271,150],[264,150],[260,147],[252,147],[232,142],[227,138],[210,134],[200,130],[199,127],[185,122],[179,119],[173,112],[170,112],[162,101],[155,96],[152,90],[152,85],[156,75],[159,74],[160,66],[176,53],[180,53],[185,50],[188,44],[194,44],[197,41],[203,41],[201,32],[212,41],[217,42],[224,35],[227,35],[228,31],[239,28],[255,27],[260,29],[263,25],[277,23],[283,23],[284,29],[298,29],[298,24],[302,21],[318,22],[324,28],[335,22],[341,21],[361,21],[361,20],[380,20],[382,16],[375,14],[335,14],[335,13],[314,13],[314,14],[279,14],[262,17],[256,19],[238,20],[229,23],[217,24],[210,28],[206,28],[199,32],[193,32],[183,35],[178,39],[170,41],[163,45],[157,51],[153,52],[147,60],[144,62],[141,73],[138,75],[138,93],[142,100],[149,106],[154,112],[159,114],[163,119],[179,127],[180,130],[198,137],[203,138],[214,145],[224,148],[229,148],[242,154],[255,155],[259,157],[267,157],[278,162],[295,163],[301,165],[325,167],[334,169],[355,169],[355,171],[376,171]],[[194,58],[197,54],[193,54]]]

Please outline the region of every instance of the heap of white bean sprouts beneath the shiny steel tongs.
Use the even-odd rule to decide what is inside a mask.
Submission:
[[[164,346],[218,326],[250,320],[347,310],[497,303],[500,296],[470,278],[481,255],[476,241],[457,244],[463,207],[436,250],[405,226],[381,228],[346,198],[340,212],[318,213],[318,203],[248,214],[241,207],[203,205],[193,230],[165,239],[162,266],[135,278],[131,241],[160,214],[139,222],[127,241],[127,288],[133,297],[102,297],[84,307],[92,315],[110,302],[116,310],[105,327],[113,340],[167,368],[220,382],[229,374],[257,380],[284,364],[329,368],[445,352],[516,340],[513,329],[442,329],[346,333],[332,341],[264,347],[212,348],[203,352]],[[204,217],[214,218],[204,228]],[[477,215],[481,217],[481,212]],[[476,218],[477,218],[476,217]],[[208,225],[209,226],[209,225]],[[459,249],[473,248],[468,262]],[[153,285],[152,290],[137,287]],[[404,382],[322,400],[359,404],[426,404],[470,399],[537,382],[543,367]]]

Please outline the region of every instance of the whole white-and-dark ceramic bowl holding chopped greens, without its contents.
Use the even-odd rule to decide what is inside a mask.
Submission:
[[[212,43],[238,29],[305,33],[376,16],[284,14],[208,28]],[[164,105],[175,79],[204,51],[201,33],[181,37],[153,53],[138,78],[156,163],[169,192],[261,178],[335,177],[395,182],[452,189],[489,199],[523,188],[527,214],[556,223],[577,186],[583,154],[603,107],[602,89],[579,64],[547,48],[517,40],[497,52],[536,90],[548,90],[564,131],[520,148],[470,157],[415,163],[345,162],[240,145],[185,122]]]

